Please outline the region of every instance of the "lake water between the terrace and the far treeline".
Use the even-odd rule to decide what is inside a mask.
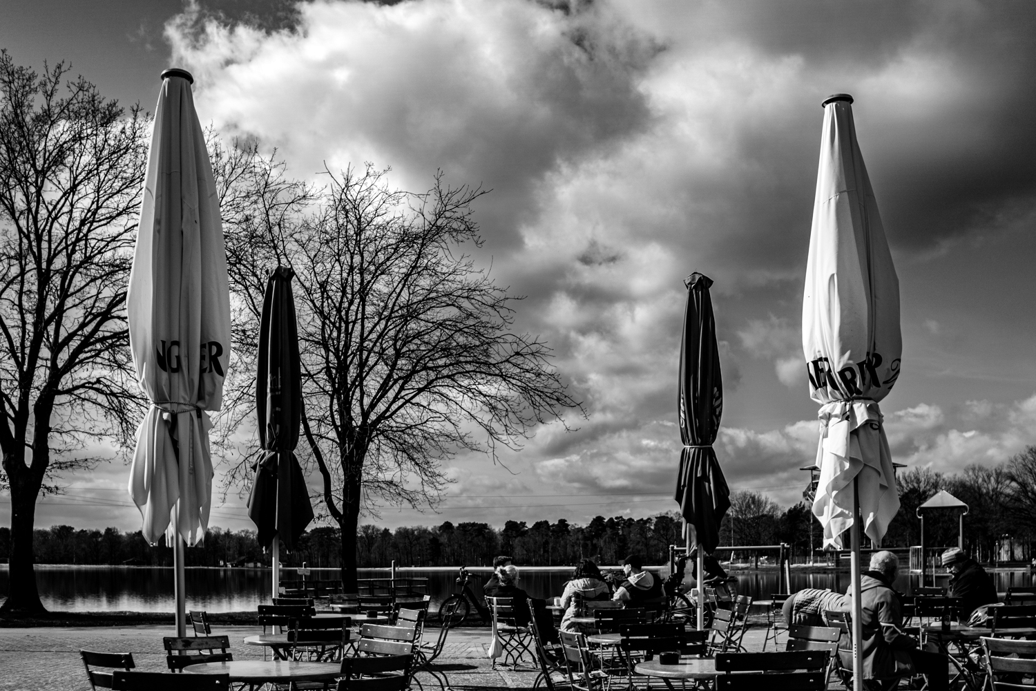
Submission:
[[[471,585],[477,596],[482,596],[482,583],[489,577],[489,569],[470,569]],[[189,609],[210,612],[254,611],[256,605],[269,597],[270,571],[268,569],[186,569],[186,602]],[[361,569],[359,578],[385,578],[387,569]],[[311,578],[332,579],[335,569],[313,569]],[[523,569],[521,586],[534,597],[558,596],[565,581],[571,578],[571,569]],[[433,610],[443,599],[456,591],[455,569],[399,569],[397,575],[429,579]],[[738,578],[738,592],[756,599],[767,599],[776,593],[776,571],[731,572]],[[293,570],[285,570],[282,578],[292,579]],[[1028,571],[998,571],[994,574],[997,589],[1032,586],[1033,577]],[[59,611],[139,611],[170,612],[173,600],[173,570],[150,567],[64,567],[37,566],[36,582],[44,605]],[[898,589],[910,592],[918,577],[900,575]],[[939,579],[945,585],[945,577]],[[848,572],[792,571],[792,589],[804,587],[832,588],[844,592],[848,585]],[[0,594],[7,593],[7,569],[0,568]]]

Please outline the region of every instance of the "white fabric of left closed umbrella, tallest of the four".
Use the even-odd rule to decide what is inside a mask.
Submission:
[[[151,400],[130,495],[145,540],[154,544],[168,527],[170,540],[178,532],[195,545],[208,527],[208,411],[220,409],[230,361],[230,293],[205,139],[185,73],[171,71],[155,109],[126,295],[134,366]]]

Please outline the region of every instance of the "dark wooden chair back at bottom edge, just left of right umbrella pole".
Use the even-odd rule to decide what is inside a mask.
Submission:
[[[726,672],[716,678],[717,691],[824,691],[828,685],[827,651],[792,653],[720,653],[716,656],[716,671]],[[804,669],[806,671],[795,671]],[[731,674],[730,672],[783,672],[767,674]]]

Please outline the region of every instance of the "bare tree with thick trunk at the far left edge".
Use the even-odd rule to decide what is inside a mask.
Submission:
[[[58,63],[0,52],[0,450],[11,497],[10,589],[42,611],[32,530],[40,493],[133,438],[139,392],[124,313],[148,117]],[[50,482],[50,484],[48,484]]]

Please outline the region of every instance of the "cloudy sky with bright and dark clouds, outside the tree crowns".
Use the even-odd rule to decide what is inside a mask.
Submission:
[[[800,323],[821,102],[839,91],[900,280],[902,375],[882,404],[894,459],[956,471],[1036,443],[1032,3],[91,6],[2,0],[0,47],[148,108],[159,73],[185,67],[203,121],[278,147],[298,177],[370,161],[401,188],[441,168],[493,190],[480,257],[527,296],[518,327],[549,341],[589,419],[539,430],[506,467],[456,459],[439,514],[386,509],[386,525],[674,509],[695,270],[715,281],[727,480],[796,501],[817,433]],[[136,529],[126,473],[69,476],[37,525]],[[231,492],[213,523],[243,516]]]

